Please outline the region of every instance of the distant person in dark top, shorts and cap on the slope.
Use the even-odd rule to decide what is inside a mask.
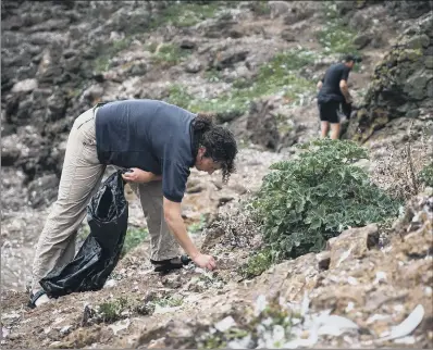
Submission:
[[[324,77],[318,83],[318,104],[321,121],[321,136],[326,137],[331,124],[331,139],[339,138],[338,110],[350,117],[352,98],[347,87],[349,73],[360,58],[347,54],[343,62],[331,65]]]

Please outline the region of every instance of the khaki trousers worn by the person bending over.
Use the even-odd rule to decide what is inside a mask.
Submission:
[[[59,196],[40,234],[33,264],[32,290],[40,289],[39,280],[54,266],[71,262],[75,255],[78,226],[86,207],[101,183],[106,165],[98,161],[94,109],[79,115],[67,139]],[[146,216],[152,260],[178,255],[178,246],[170,233],[162,210],[162,183],[131,184],[139,197]]]

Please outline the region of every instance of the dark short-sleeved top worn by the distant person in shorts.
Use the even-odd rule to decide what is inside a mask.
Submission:
[[[322,79],[323,86],[318,93],[318,102],[343,102],[345,98],[339,89],[339,80],[347,82],[349,73],[350,68],[344,63],[331,65]]]

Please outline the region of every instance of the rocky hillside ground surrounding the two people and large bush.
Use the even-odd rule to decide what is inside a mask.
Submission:
[[[389,187],[408,178],[388,166],[409,164],[401,158],[408,141],[418,167],[433,154],[425,4],[357,3],[239,2],[206,13],[200,8],[197,17],[196,8],[175,16],[164,1],[2,2],[2,347],[432,347],[433,193],[419,195],[413,184],[404,195],[419,197],[385,240],[375,225],[354,228],[324,253],[277,264],[250,280],[238,273],[260,245],[239,202],[260,187],[269,165],[290,157],[294,143],[318,135],[313,86],[342,45],[323,41],[331,29],[348,26],[346,41],[363,57],[349,80],[361,108],[345,137],[370,148],[367,165],[378,183]],[[290,58],[307,65],[258,85],[275,53],[299,48]],[[389,62],[397,70],[383,72]],[[251,79],[259,92],[245,95],[242,84]],[[219,268],[191,265],[161,276],[151,270],[145,240],[102,290],[30,311],[24,290],[71,122],[95,102],[119,98],[215,110],[239,139],[238,171],[228,186],[218,174],[193,171],[183,203],[186,223],[196,227],[191,237],[216,257]],[[128,200],[129,226],[145,227],[138,201],[131,193]],[[212,229],[221,217],[224,229]]]

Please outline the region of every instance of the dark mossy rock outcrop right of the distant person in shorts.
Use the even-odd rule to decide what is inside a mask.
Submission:
[[[395,118],[433,118],[433,16],[417,20],[376,65],[345,138],[366,141]]]

